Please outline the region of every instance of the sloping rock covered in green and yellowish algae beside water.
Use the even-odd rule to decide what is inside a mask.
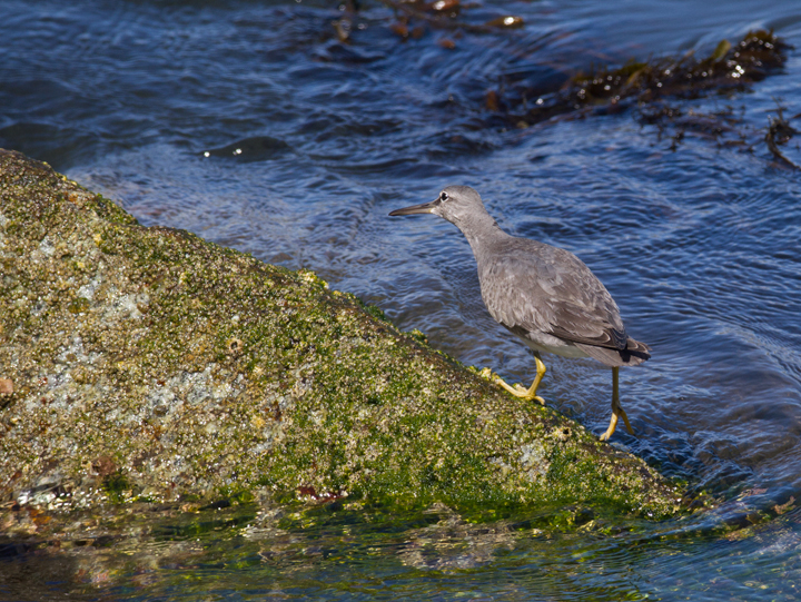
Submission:
[[[0,150],[0,504],[603,504],[676,487],[380,312]],[[1,506],[0,506],[1,507]]]

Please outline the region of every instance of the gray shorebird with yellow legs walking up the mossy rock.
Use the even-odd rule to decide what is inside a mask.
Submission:
[[[392,211],[390,216],[434,214],[465,235],[478,264],[482,298],[492,317],[534,351],[537,375],[530,388],[496,382],[525,399],[536,394],[545,375],[540,352],[564,357],[592,357],[612,368],[612,420],[601,435],[606,441],[617,420],[634,431],[620,405],[617,369],[651,357],[650,347],[626,335],[617,304],[590,268],[568,250],[517,238],[503,231],[469,186],[448,186],[422,205]]]

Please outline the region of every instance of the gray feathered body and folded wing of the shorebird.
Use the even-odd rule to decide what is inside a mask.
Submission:
[[[626,348],[617,305],[581,259],[534,240],[513,243],[478,269],[484,303],[497,322],[583,345]]]

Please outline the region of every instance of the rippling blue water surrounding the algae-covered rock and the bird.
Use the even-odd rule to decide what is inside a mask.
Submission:
[[[474,186],[507,231],[576,253],[653,347],[621,374],[636,436],[619,431],[614,444],[724,502],[675,524],[546,534],[525,516],[478,527],[441,513],[382,530],[358,513],[305,526],[254,514],[194,544],[65,553],[50,585],[38,576],[47,562],[23,555],[0,598],[799,598],[801,174],[763,141],[778,103],[801,112],[799,50],[749,91],[670,101],[729,111],[734,132],[718,138],[688,130],[673,145],[636,109],[502,128],[485,101],[503,82],[555,91],[577,69],[704,55],[753,28],[801,49],[798,2],[495,0],[461,19],[525,26],[407,40],[369,2],[350,43],[332,26],[347,11],[322,1],[66,4],[0,0],[0,147],[142,224],[314,269],[435,347],[527,383],[532,357],[486,314],[462,235],[433,216],[387,217],[445,185]],[[728,144],[739,137],[745,148]],[[785,151],[801,162],[798,138]],[[545,362],[547,404],[603,432],[609,371]],[[33,582],[43,589],[26,594]]]

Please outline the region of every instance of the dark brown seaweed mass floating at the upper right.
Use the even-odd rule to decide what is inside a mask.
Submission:
[[[753,132],[732,107],[714,112],[682,108],[678,100],[712,93],[730,97],[779,71],[791,47],[772,31],[749,31],[732,46],[722,40],[714,51],[699,59],[693,52],[680,58],[631,61],[616,69],[578,72],[558,90],[544,92],[537,82],[506,86],[486,96],[486,108],[501,124],[527,128],[560,116],[607,115],[633,108],[643,125],[655,126],[660,139],[668,135],[675,150],[685,135],[714,140],[720,146],[754,150]],[[537,93],[538,92],[538,93]],[[801,169],[779,148],[798,134],[783,118],[781,108],[768,127],[764,140],[781,162]]]

